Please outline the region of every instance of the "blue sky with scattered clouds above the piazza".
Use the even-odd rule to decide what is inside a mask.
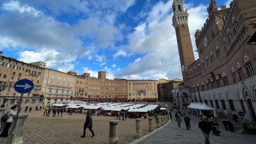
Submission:
[[[184,0],[193,50],[210,0]],[[229,7],[231,0],[216,0]],[[62,72],[182,79],[173,0],[1,0],[0,51]],[[198,53],[195,52],[195,59]]]

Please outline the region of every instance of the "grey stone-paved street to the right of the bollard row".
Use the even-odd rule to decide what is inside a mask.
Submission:
[[[168,103],[168,106],[171,107],[172,104]],[[185,111],[188,114],[187,110]],[[187,130],[183,117],[181,122],[181,130],[178,129],[178,126],[175,122],[174,112],[172,112],[173,120],[166,126],[164,126],[160,130],[156,130],[153,134],[147,134],[136,141],[133,140],[132,144],[204,144],[204,136],[202,131],[198,128],[198,122],[200,118],[196,115],[191,114],[191,130]],[[222,120],[230,120],[236,133],[231,133],[225,130],[225,127],[221,123]],[[211,144],[255,144],[256,143],[256,135],[252,134],[240,134],[239,130],[242,129],[242,125],[240,122],[234,122],[231,118],[218,118],[218,122],[220,125],[220,136],[217,136],[210,133],[210,143]],[[146,137],[146,138],[145,138]],[[132,142],[132,141],[131,141]]]

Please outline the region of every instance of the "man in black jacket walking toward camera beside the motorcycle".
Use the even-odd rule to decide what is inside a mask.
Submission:
[[[209,133],[211,132],[211,124],[209,121],[206,120],[206,116],[203,116],[202,118],[203,120],[199,121],[198,127],[202,130],[204,134],[205,143],[210,144]]]

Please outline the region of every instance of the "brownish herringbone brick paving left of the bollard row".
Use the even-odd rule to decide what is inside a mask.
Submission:
[[[95,136],[91,138],[91,132],[86,129],[86,137],[80,138],[83,134],[83,125],[86,114],[68,115],[63,114],[63,117],[43,116],[43,111],[35,111],[35,106],[29,114],[26,121],[25,132],[23,136],[23,144],[106,144],[109,142],[109,120],[113,120],[111,116],[92,116],[93,131]],[[5,107],[7,111],[10,106]],[[21,113],[25,110],[22,106]],[[60,115],[59,115],[60,116]],[[153,119],[155,121],[155,119]],[[153,122],[154,129],[157,124]],[[148,132],[148,119],[142,119],[143,136]],[[127,120],[119,120],[118,123],[118,143],[128,143],[135,140],[136,136],[136,121],[135,119],[127,118]],[[3,140],[7,140],[2,138]],[[2,140],[0,138],[0,140]],[[0,141],[1,143],[1,141]],[[2,141],[3,143],[3,141]]]

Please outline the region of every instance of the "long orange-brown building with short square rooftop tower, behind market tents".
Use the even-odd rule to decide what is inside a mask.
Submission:
[[[105,71],[99,71],[98,77],[90,73],[75,76],[75,100],[128,101],[126,79],[108,79]]]

